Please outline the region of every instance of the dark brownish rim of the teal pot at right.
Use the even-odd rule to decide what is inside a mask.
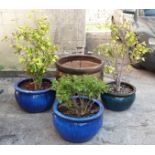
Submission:
[[[115,81],[111,81],[111,82],[108,82],[107,84],[112,84],[112,83],[115,83]],[[130,95],[133,95],[136,93],[136,87],[133,86],[132,84],[128,83],[128,82],[124,82],[124,81],[121,81],[121,83],[131,87],[133,89],[132,92],[130,93],[127,93],[127,94],[118,94],[118,93],[111,93],[111,92],[107,92],[107,93],[104,93],[104,94],[108,94],[108,95],[111,95],[111,96],[118,96],[118,97],[125,97],[125,96],[130,96]]]

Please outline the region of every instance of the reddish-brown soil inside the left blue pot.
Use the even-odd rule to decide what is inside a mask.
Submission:
[[[34,82],[32,82],[32,81],[27,81],[27,82],[21,83],[19,85],[19,87],[22,89],[25,89],[25,90],[30,90],[30,91],[35,90],[35,85],[34,85]],[[50,87],[51,87],[50,81],[43,81],[40,90],[48,89]]]

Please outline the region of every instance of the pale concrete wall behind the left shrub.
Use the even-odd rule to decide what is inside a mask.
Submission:
[[[0,10],[0,37],[13,32],[17,25],[24,24],[32,10]],[[59,55],[84,52],[85,10],[33,10],[36,16],[45,15],[51,24],[50,36],[59,46]],[[77,47],[81,47],[80,51]],[[0,65],[4,70],[20,70],[17,56],[8,42],[0,43]]]

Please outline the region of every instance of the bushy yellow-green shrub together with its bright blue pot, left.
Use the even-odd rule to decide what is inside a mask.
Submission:
[[[55,91],[51,81],[43,78],[50,64],[56,61],[56,45],[47,36],[49,22],[46,17],[34,18],[33,23],[19,26],[10,37],[19,62],[31,78],[15,84],[15,97],[27,112],[43,112],[52,106]]]

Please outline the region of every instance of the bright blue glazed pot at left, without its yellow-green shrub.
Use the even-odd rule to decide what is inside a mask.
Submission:
[[[43,80],[50,82],[49,79]],[[20,85],[28,81],[32,81],[32,79],[20,80],[15,84],[15,98],[20,107],[30,113],[39,113],[50,109],[55,100],[55,91],[51,88],[35,91],[21,89]]]

